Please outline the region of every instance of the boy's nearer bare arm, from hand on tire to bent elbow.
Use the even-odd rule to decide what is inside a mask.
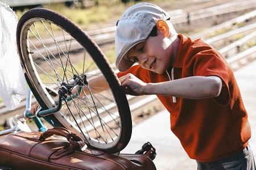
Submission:
[[[120,78],[130,95],[166,95],[187,99],[207,99],[220,95],[222,80],[218,76],[191,76],[160,83],[144,83],[133,74]]]

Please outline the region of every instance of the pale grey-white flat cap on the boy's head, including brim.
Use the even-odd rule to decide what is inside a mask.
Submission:
[[[115,30],[115,65],[119,71],[126,71],[134,64],[125,59],[127,52],[145,41],[160,19],[167,20],[170,16],[152,3],[138,3],[123,12]]]

